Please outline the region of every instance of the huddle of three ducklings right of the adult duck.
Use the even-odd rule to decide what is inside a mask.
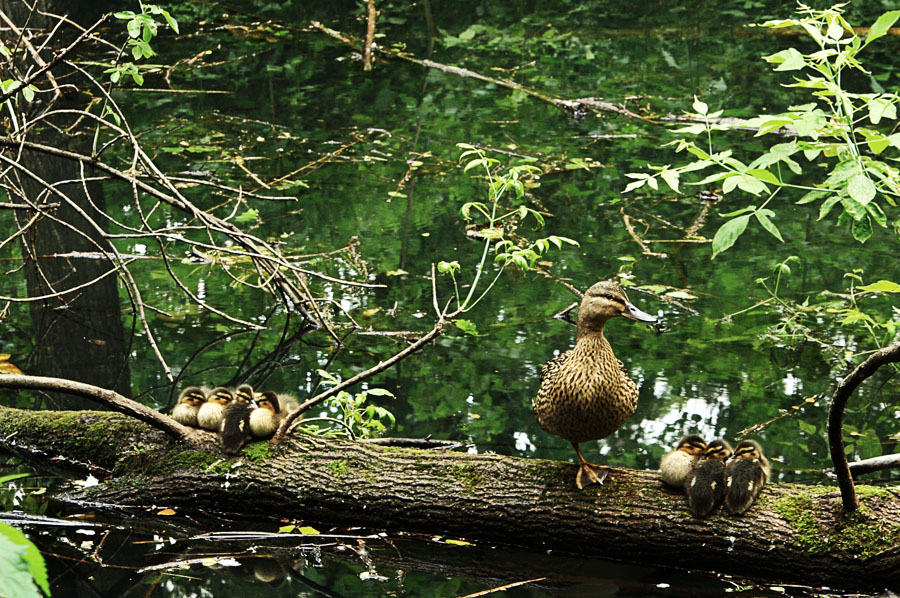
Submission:
[[[706,444],[699,436],[685,436],[659,464],[663,482],[684,488],[688,507],[698,517],[724,502],[732,515],[753,505],[769,480],[771,469],[762,446],[744,440],[732,450],[724,440]]]

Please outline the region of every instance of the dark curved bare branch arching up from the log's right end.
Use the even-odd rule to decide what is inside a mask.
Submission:
[[[886,363],[897,363],[898,361],[900,361],[900,342],[876,351],[841,381],[831,399],[831,409],[828,412],[828,448],[831,451],[834,473],[837,475],[838,484],[841,487],[841,500],[845,511],[855,511],[859,508],[859,497],[853,484],[853,476],[850,474],[847,452],[844,450],[844,438],[841,433],[844,407],[856,387],[874,374],[875,370]]]

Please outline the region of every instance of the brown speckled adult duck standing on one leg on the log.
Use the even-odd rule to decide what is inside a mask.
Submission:
[[[578,457],[575,484],[579,489],[602,484],[609,468],[588,463],[578,445],[609,436],[637,407],[637,385],[603,336],[607,320],[616,317],[656,321],[632,305],[618,283],[598,282],[584,294],[578,309],[575,348],[541,368],[534,414],[544,430],[572,443]]]

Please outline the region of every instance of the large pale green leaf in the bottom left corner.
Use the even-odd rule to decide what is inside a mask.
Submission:
[[[0,522],[0,596],[39,598],[50,595],[44,558],[21,531]]]

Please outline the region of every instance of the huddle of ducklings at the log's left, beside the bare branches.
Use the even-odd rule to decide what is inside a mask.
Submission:
[[[253,391],[242,384],[234,391],[219,386],[212,390],[191,386],[181,391],[172,418],[185,426],[218,432],[222,449],[235,454],[251,438],[268,438],[287,413],[297,408],[287,394]]]

